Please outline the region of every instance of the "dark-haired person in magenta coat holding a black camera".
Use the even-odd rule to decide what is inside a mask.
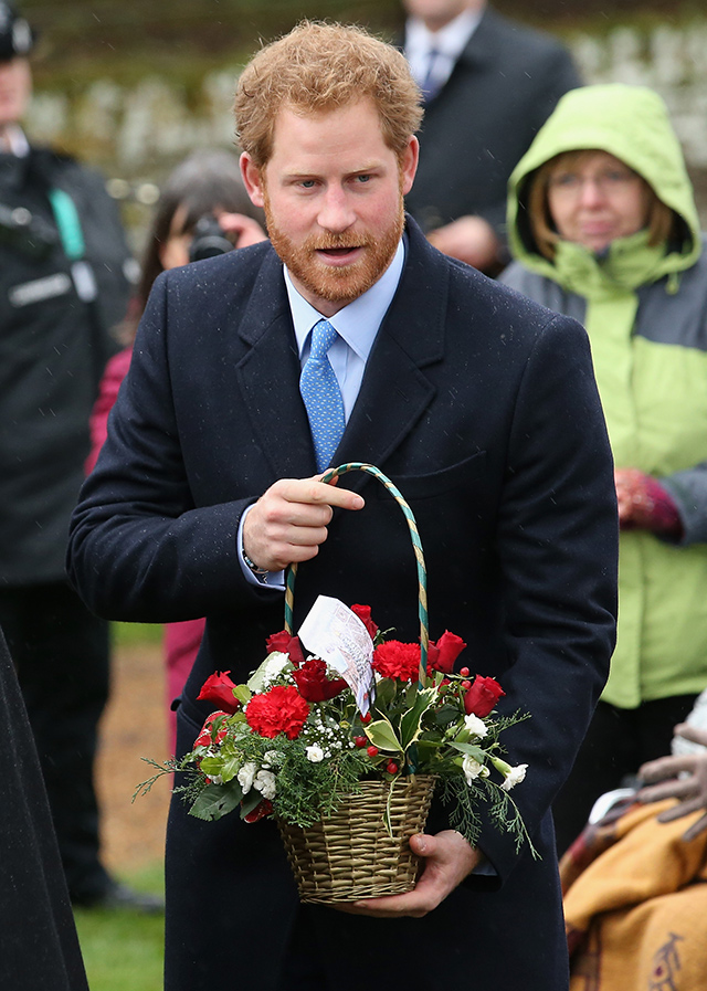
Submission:
[[[141,275],[128,319],[127,346],[108,361],[91,417],[92,451],[86,471],[96,463],[106,439],[108,414],[130,367],[133,340],[152,283],[167,268],[223,254],[265,240],[264,217],[251,203],[238,158],[225,150],[196,151],[178,165],[161,190],[147,235]],[[203,634],[203,619],[165,628],[169,746],[173,753],[175,708]]]

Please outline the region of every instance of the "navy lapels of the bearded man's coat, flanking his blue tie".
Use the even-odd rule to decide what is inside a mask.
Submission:
[[[373,344],[335,463],[361,461],[384,471],[435,394],[424,368],[444,355],[449,261],[408,218],[409,250],[400,285]],[[316,473],[299,361],[282,263],[266,251],[239,327],[247,345],[238,382],[257,443],[275,477]],[[366,476],[351,477],[359,487]]]

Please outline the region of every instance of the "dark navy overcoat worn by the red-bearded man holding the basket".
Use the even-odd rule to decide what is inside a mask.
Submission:
[[[461,663],[504,685],[502,711],[532,714],[507,740],[510,760],[530,768],[514,798],[544,860],[516,857],[487,826],[495,878],[473,878],[422,921],[308,909],[297,946],[306,940],[337,989],[371,974],[390,988],[449,988],[471,968],[478,988],[553,991],[567,962],[548,809],[613,646],[611,455],[582,328],[446,259],[413,222],[409,239],[335,463],[371,462],[399,485],[425,550],[432,639],[458,633],[469,645]],[[92,608],[131,621],[208,616],[181,748],[210,709],[196,700],[208,674],[243,679],[283,625],[282,594],[247,583],[235,537],[273,482],[315,473],[298,377],[268,244],[160,276],[74,515],[70,573]],[[295,625],[324,592],[370,603],[383,628],[414,640],[402,513],[369,476],[341,482],[367,506],[337,514],[299,569]],[[272,824],[202,823],[177,800],[167,878],[169,991],[214,987],[226,973],[279,987],[296,895]],[[416,953],[423,935],[429,948]]]

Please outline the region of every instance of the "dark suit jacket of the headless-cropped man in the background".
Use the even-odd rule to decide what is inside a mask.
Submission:
[[[513,169],[560,96],[579,85],[559,42],[487,8],[425,107],[420,167],[407,197],[425,233],[468,213],[503,232]]]

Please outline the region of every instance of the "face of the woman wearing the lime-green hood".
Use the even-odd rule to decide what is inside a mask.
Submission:
[[[548,205],[558,234],[590,251],[646,226],[650,203],[645,180],[606,151],[559,161],[550,172]]]

